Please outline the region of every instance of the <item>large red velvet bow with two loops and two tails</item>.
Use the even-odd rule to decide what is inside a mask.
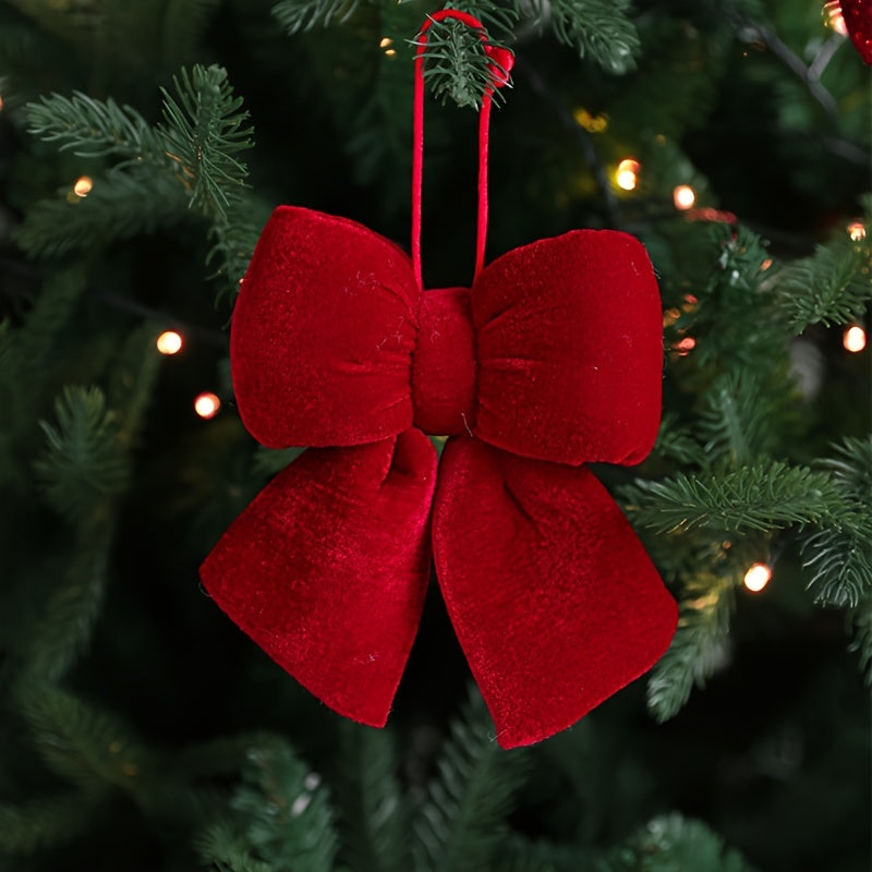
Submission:
[[[637,463],[661,410],[644,247],[577,230],[421,293],[361,225],[279,207],[231,330],[240,414],[313,446],[202,568],[206,589],[337,712],[384,725],[431,557],[504,748],[564,729],[649,669],[676,605],[584,465]],[[447,434],[437,460],[425,434]]]

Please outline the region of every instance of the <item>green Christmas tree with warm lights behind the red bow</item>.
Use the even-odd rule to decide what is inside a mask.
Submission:
[[[435,583],[384,729],[323,705],[199,583],[305,457],[258,446],[234,401],[258,234],[292,204],[407,247],[415,40],[440,7],[8,0],[3,869],[869,868],[869,4],[452,5],[516,59],[487,259],[610,228],[656,270],[656,444],[594,471],[678,603],[671,645],[506,751]],[[472,275],[477,110],[509,56],[428,33],[437,288]]]

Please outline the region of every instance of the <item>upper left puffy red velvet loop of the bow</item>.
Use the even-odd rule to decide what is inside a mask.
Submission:
[[[233,311],[233,389],[270,448],[362,445],[412,423],[420,294],[409,256],[378,233],[279,206]]]

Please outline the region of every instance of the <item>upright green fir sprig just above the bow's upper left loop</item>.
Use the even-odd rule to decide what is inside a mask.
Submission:
[[[178,99],[166,88],[165,124],[159,128],[177,178],[191,190],[191,205],[223,216],[245,184],[247,168],[238,155],[252,147],[249,113],[222,66],[196,64],[173,77]]]

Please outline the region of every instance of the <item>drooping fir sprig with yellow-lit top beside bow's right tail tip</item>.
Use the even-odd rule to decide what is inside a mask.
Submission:
[[[729,579],[707,574],[690,585],[673,643],[649,679],[647,707],[658,723],[675,717],[693,686],[704,687],[723,662],[732,586]]]

